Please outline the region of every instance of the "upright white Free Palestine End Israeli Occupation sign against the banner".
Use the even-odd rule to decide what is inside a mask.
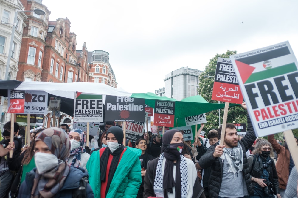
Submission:
[[[74,107],[75,122],[103,122],[103,95],[78,92]]]

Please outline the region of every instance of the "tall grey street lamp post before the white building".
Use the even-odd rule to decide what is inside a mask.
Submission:
[[[12,48],[13,48],[13,38],[15,37],[15,26],[17,23],[17,16],[18,12],[34,12],[35,14],[38,15],[44,15],[45,12],[42,9],[34,9],[34,10],[15,10],[15,18],[13,20],[13,30],[11,32],[11,39],[10,39],[10,45],[9,45],[9,51],[8,51],[8,58],[7,58],[7,64],[6,64],[6,70],[5,70],[5,80],[8,80],[8,71],[9,71],[9,65],[10,65],[10,58],[11,58],[11,53],[12,53]]]

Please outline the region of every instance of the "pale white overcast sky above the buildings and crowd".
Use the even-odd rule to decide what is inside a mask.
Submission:
[[[165,86],[188,66],[204,71],[217,53],[238,53],[288,40],[298,56],[298,1],[43,0],[49,20],[69,18],[77,50],[104,50],[118,88],[132,93]],[[85,4],[83,4],[85,3]]]

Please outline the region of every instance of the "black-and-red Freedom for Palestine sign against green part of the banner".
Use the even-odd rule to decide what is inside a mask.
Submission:
[[[156,100],[154,108],[154,124],[157,126],[174,126],[175,102]]]

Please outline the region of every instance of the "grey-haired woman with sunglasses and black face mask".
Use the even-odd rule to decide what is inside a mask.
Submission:
[[[253,150],[253,155],[248,157],[254,186],[254,195],[250,197],[274,198],[276,194],[277,198],[281,198],[276,167],[271,155],[271,144],[267,140],[260,140]]]

